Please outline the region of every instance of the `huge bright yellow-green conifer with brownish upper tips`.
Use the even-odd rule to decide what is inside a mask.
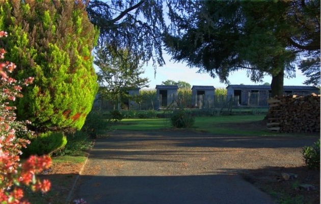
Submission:
[[[91,51],[98,31],[81,1],[1,1],[0,30],[13,77],[34,77],[17,100],[37,131],[81,129],[98,85]]]

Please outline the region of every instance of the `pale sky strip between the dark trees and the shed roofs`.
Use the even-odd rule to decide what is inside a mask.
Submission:
[[[174,63],[167,54],[164,54],[163,57],[166,64],[163,67],[157,67],[155,76],[152,64],[149,63],[148,65],[144,65],[143,68],[145,68],[145,73],[142,74],[141,77],[147,77],[150,80],[149,88],[144,89],[154,89],[156,85],[161,85],[162,82],[166,80],[188,82],[191,86],[214,86],[215,88],[227,87],[227,84],[220,83],[218,78],[211,78],[208,73],[196,73],[198,68],[189,68],[185,63]],[[240,70],[230,73],[228,80],[230,81],[230,84],[260,85],[265,82],[271,84],[272,77],[265,76],[262,83],[254,83],[247,77],[246,70]],[[300,70],[297,70],[296,78],[284,78],[284,85],[304,86],[303,82],[305,80],[306,77]]]

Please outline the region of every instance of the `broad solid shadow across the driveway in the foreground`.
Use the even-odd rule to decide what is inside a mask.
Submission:
[[[237,175],[81,176],[77,195],[95,204],[274,203]]]

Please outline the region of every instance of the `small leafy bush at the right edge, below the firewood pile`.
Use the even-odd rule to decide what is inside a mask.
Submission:
[[[303,158],[310,169],[320,169],[320,139],[312,146],[303,147]]]

